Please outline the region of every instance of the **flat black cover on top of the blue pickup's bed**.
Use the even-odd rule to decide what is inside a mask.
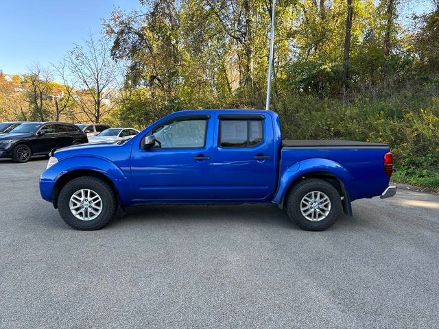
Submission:
[[[368,142],[358,142],[358,141],[342,141],[342,140],[328,140],[328,139],[320,139],[320,140],[302,140],[302,139],[285,139],[282,141],[282,147],[285,149],[290,148],[311,148],[311,147],[319,147],[319,148],[355,148],[355,149],[364,149],[364,148],[384,148],[387,149],[389,145],[383,143],[368,143]]]

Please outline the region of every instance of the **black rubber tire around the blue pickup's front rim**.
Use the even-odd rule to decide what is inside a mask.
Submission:
[[[102,199],[102,211],[92,220],[78,219],[70,210],[72,195],[81,190],[93,190]],[[117,211],[117,197],[111,186],[100,178],[94,176],[82,176],[75,178],[64,185],[58,196],[58,212],[61,218],[75,230],[99,230],[113,219]]]

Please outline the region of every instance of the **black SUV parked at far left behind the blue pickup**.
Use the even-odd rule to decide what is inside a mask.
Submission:
[[[52,149],[88,143],[79,127],[61,122],[27,122],[0,135],[0,158],[27,162],[31,156],[48,155]]]

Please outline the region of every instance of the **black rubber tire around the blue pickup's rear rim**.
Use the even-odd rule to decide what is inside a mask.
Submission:
[[[305,195],[313,191],[326,194],[331,202],[329,213],[319,221],[311,221],[310,219],[307,219],[300,210],[302,199]],[[289,191],[285,210],[287,211],[289,219],[296,223],[299,228],[302,228],[302,230],[323,231],[333,226],[335,221],[340,218],[342,212],[342,199],[337,189],[329,182],[316,178],[309,178],[298,182],[298,184]],[[307,210],[304,211],[305,215],[307,215]]]

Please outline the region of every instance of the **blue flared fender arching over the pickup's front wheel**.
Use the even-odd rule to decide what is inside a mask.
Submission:
[[[122,206],[128,206],[132,200],[131,180],[120,167],[106,158],[99,156],[71,156],[60,159],[55,166],[54,170],[49,168],[49,170],[41,175],[40,184],[41,182],[51,181],[55,186],[56,182],[67,173],[83,170],[95,171],[104,175],[114,184]]]

